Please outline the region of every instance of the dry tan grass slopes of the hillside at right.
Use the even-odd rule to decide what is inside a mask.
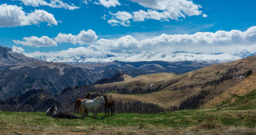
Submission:
[[[210,90],[210,93],[204,99],[204,103],[206,103],[207,101],[214,99],[214,97],[216,97],[221,91],[225,92],[228,89],[230,89],[230,87],[238,85],[241,81],[243,81],[244,77],[229,79],[224,81],[223,83],[220,83],[216,87],[208,86],[207,88],[204,88],[204,89],[201,89],[201,86],[199,84],[200,83],[203,84],[206,81],[219,79],[222,75],[216,74],[217,71],[219,71],[219,73],[225,73],[226,71],[228,71],[228,69],[234,68],[234,67],[240,68],[239,71],[235,72],[237,75],[239,73],[247,72],[249,69],[252,69],[252,71],[256,71],[256,56],[250,56],[241,60],[228,62],[224,64],[213,64],[213,65],[203,67],[194,71],[190,71],[181,75],[176,75],[174,73],[155,73],[155,74],[141,75],[141,76],[130,78],[130,79],[126,78],[125,81],[121,81],[121,82],[108,83],[108,84],[95,85],[95,86],[111,87],[111,86],[117,85],[120,88],[126,86],[129,89],[133,89],[135,87],[142,87],[146,89],[152,83],[154,83],[152,85],[153,88],[157,87],[159,84],[161,84],[163,87],[172,81],[178,80],[178,82],[166,87],[165,89],[161,91],[153,92],[153,93],[141,94],[141,95],[124,95],[124,94],[109,93],[108,95],[112,95],[112,98],[116,100],[122,100],[122,101],[137,100],[137,101],[142,101],[147,103],[157,103],[158,105],[164,108],[169,108],[173,105],[178,106],[181,103],[181,101],[183,101],[189,96],[197,95],[201,90]],[[247,88],[255,89],[255,88],[252,88],[255,86],[254,81],[252,82],[243,81],[243,83],[240,83],[240,85],[242,87],[242,85],[244,85],[245,83],[248,83],[246,84],[247,85],[246,89]],[[174,90],[174,87],[183,87],[184,85],[186,86],[186,85],[196,84],[196,83],[198,86],[193,86],[193,88],[186,87],[186,89],[183,89],[183,90],[181,89],[178,89],[177,91]],[[228,99],[228,98],[224,98],[224,99]],[[216,106],[222,102],[222,100],[221,101],[216,100],[216,101],[218,102],[214,103],[211,106]],[[211,103],[213,102],[214,101],[212,101]],[[208,107],[210,107],[209,104],[207,105]]]

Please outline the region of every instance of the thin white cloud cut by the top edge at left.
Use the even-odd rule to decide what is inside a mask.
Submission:
[[[18,0],[21,1],[26,6],[50,6],[51,8],[65,8],[68,10],[78,9],[79,7],[75,6],[74,4],[67,4],[62,0],[51,0],[50,3],[46,2],[45,0]]]

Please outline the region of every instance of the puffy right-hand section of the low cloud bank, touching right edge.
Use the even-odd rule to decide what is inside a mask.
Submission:
[[[140,41],[143,50],[183,50],[204,53],[214,52],[238,52],[244,48],[256,49],[256,26],[242,32],[239,30],[213,32],[196,32],[195,34],[162,34],[154,38]],[[254,47],[255,46],[255,47]]]

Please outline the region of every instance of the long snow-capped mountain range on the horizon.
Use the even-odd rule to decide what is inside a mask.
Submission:
[[[194,54],[188,52],[144,52],[141,54],[126,54],[122,56],[115,56],[108,54],[105,57],[97,56],[72,56],[70,58],[65,58],[62,56],[57,57],[47,57],[47,56],[37,56],[36,59],[44,60],[47,62],[58,62],[58,63],[68,63],[68,64],[87,64],[87,63],[108,63],[114,60],[121,62],[141,62],[141,61],[166,61],[166,62],[182,62],[182,61],[191,61],[191,62],[202,62],[208,64],[215,63],[224,63],[247,56],[255,55],[256,52],[249,52],[247,50],[242,50],[236,54],[224,54],[222,52],[216,54]]]

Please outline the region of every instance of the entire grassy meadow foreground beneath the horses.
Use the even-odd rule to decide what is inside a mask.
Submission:
[[[77,114],[76,114],[77,115]],[[139,115],[139,117],[138,117]],[[256,133],[256,110],[188,109],[156,114],[98,113],[85,119],[56,119],[45,112],[0,111],[0,133],[175,134]],[[78,116],[81,116],[78,114]],[[229,131],[232,129],[232,131]]]

